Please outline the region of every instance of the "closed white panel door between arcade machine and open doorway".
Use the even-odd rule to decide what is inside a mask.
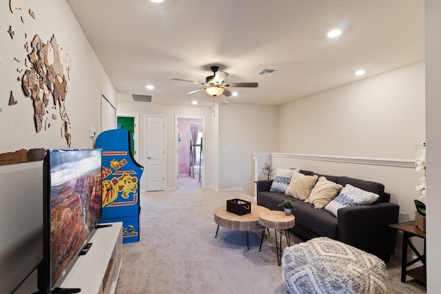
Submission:
[[[146,191],[164,190],[164,129],[162,116],[147,116],[145,122]]]

